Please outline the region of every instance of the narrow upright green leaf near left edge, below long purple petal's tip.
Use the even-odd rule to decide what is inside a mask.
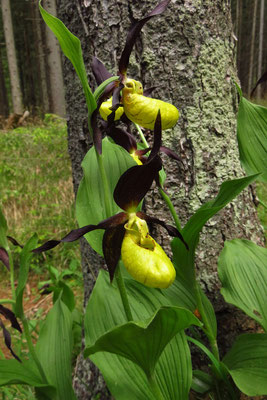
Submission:
[[[32,250],[37,246],[37,243],[38,238],[37,235],[34,234],[20,253],[19,278],[16,288],[16,304],[14,306],[14,312],[16,316],[20,318],[23,315],[23,292],[28,279],[30,261],[33,256]]]

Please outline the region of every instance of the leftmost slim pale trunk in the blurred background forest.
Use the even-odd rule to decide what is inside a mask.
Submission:
[[[17,66],[17,57],[16,57],[9,0],[2,0],[1,5],[2,5],[2,19],[4,26],[5,42],[6,42],[10,84],[11,84],[13,112],[16,114],[22,114],[23,113],[22,94],[19,82],[19,73]]]

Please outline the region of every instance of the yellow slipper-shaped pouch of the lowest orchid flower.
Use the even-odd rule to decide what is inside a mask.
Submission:
[[[145,220],[135,214],[125,224],[121,257],[129,274],[154,288],[167,288],[175,279],[175,269],[162,247],[149,235]]]

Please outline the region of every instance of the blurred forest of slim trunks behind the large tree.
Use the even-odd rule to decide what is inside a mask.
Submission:
[[[267,70],[265,3],[232,0],[237,68],[247,97]],[[42,117],[46,113],[64,117],[61,52],[41,19],[38,1],[1,0],[1,5],[0,126],[9,128],[19,119],[22,124],[28,117]],[[43,5],[56,14],[56,0],[44,0]],[[259,87],[257,98],[264,95],[264,87]]]

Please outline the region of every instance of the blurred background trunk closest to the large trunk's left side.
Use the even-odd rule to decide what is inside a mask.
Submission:
[[[43,7],[52,15],[56,16],[56,1],[45,0]],[[46,44],[48,48],[47,62],[49,66],[49,83],[51,94],[51,112],[65,117],[65,96],[62,75],[61,52],[57,39],[52,31],[46,26]]]

